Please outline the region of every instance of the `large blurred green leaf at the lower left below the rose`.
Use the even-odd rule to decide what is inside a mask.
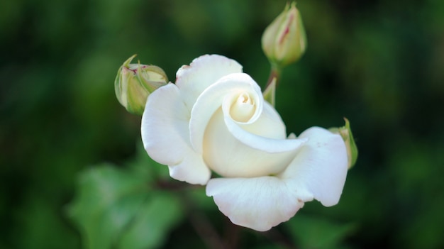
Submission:
[[[125,245],[123,248],[131,249],[161,243],[180,218],[180,209],[173,196],[152,189],[138,172],[100,165],[80,174],[68,214],[80,229],[84,248]],[[145,233],[145,238],[126,242],[140,233]]]

